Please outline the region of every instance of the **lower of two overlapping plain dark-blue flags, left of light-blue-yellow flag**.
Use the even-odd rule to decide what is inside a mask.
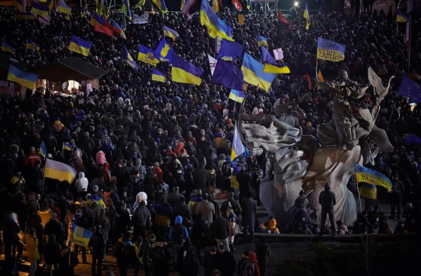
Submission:
[[[226,88],[243,90],[243,71],[230,62],[218,59],[211,83],[219,83]]]

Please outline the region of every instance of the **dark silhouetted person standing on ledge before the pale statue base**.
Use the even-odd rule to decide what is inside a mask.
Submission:
[[[336,204],[336,196],[333,191],[330,191],[330,184],[328,183],[325,184],[324,191],[321,191],[319,194],[319,204],[321,205],[321,231],[319,235],[323,235],[326,227],[326,218],[329,215],[331,233],[335,236],[335,212],[333,206]]]

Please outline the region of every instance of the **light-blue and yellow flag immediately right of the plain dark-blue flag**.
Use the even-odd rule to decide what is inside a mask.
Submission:
[[[241,71],[243,71],[243,79],[246,83],[256,85],[266,92],[272,86],[273,81],[276,78],[276,74],[264,73],[264,64],[261,64],[257,60],[253,59],[248,53],[244,54],[243,64],[241,65]]]

